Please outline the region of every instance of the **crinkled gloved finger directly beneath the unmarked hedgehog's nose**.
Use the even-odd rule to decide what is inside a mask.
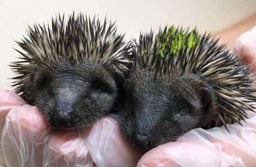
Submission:
[[[93,161],[76,131],[54,131],[44,147],[47,167],[92,167]]]

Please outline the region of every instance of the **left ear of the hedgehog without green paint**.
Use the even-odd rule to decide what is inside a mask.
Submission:
[[[35,69],[30,75],[30,82],[32,83],[33,89],[35,90],[45,88],[50,79],[50,74],[43,70]]]

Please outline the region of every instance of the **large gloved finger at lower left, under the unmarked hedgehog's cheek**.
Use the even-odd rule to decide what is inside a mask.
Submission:
[[[12,109],[6,116],[1,143],[7,166],[40,167],[49,132],[36,107],[26,104]]]

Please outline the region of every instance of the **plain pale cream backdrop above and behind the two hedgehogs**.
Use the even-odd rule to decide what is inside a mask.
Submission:
[[[197,25],[232,47],[236,37],[256,25],[256,0],[0,0],[0,89],[8,88],[7,78],[13,77],[7,64],[19,56],[14,40],[25,34],[27,25],[73,10],[117,20],[127,39],[150,27]]]

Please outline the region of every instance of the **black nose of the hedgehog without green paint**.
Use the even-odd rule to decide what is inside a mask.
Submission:
[[[55,114],[53,116],[53,127],[57,129],[66,129],[73,126],[71,115]]]

